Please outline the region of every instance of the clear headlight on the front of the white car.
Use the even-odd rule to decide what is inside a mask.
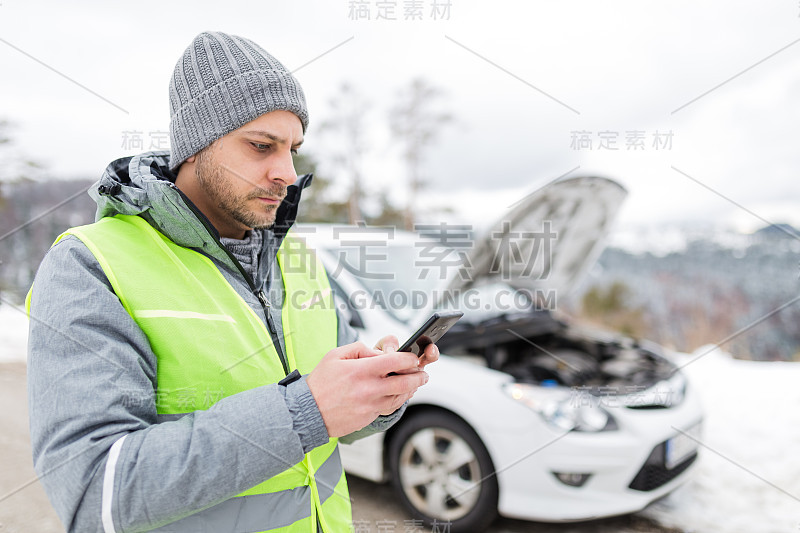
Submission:
[[[587,402],[583,396],[571,394],[563,388],[509,383],[504,385],[504,390],[555,428],[591,432],[617,429],[614,418],[600,407],[599,402]]]

